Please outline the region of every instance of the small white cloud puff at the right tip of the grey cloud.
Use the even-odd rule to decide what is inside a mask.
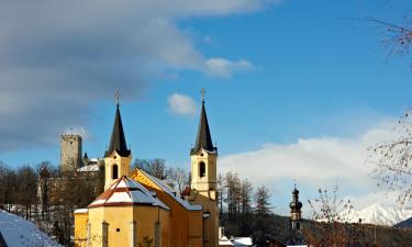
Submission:
[[[211,76],[229,78],[233,72],[250,70],[254,66],[245,60],[231,61],[224,58],[214,57],[205,60],[207,72]]]

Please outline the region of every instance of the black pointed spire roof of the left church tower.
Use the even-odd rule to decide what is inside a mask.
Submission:
[[[109,149],[105,151],[104,157],[108,157],[115,150],[120,156],[130,156],[127,149],[126,138],[124,137],[122,117],[120,116],[119,103],[116,104],[112,137],[110,138]]]

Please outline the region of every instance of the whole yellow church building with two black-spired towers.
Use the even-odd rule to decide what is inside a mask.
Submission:
[[[218,247],[216,159],[204,98],[194,147],[191,184],[185,195],[141,169],[130,170],[119,103],[104,154],[104,192],[76,210],[77,247]]]

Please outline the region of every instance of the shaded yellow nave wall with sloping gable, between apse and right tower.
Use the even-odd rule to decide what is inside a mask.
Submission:
[[[170,207],[170,247],[201,247],[202,246],[202,211],[188,211],[167,192],[148,179],[138,169],[131,173],[131,178],[149,190],[155,190],[157,198]]]

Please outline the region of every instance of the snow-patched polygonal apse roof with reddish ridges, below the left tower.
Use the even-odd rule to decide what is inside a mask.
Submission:
[[[133,181],[126,176],[119,178],[109,190],[104,191],[90,203],[89,207],[138,204],[148,204],[170,210],[144,186]]]

